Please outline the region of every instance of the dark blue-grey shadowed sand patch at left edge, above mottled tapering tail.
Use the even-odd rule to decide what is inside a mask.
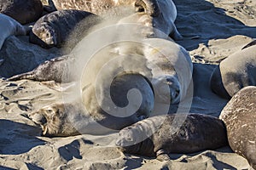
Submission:
[[[32,71],[45,60],[61,55],[61,51],[56,48],[46,50],[21,39],[11,36],[3,43],[0,50],[0,77],[12,77]]]

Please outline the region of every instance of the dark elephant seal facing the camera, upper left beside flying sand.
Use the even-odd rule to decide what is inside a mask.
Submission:
[[[79,10],[61,10],[44,15],[32,27],[29,41],[43,48],[60,48],[84,18],[93,16]],[[75,39],[75,37],[74,37]]]

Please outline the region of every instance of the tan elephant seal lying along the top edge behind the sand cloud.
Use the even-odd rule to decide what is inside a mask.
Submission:
[[[101,16],[109,15],[109,11],[114,10],[114,13],[120,15],[125,8],[131,8],[131,13],[122,14],[124,19],[122,23],[129,20],[129,23],[140,23],[143,26],[154,28],[154,37],[158,37],[159,31],[167,36],[170,35],[174,40],[180,40],[183,37],[177,31],[174,21],[177,17],[177,9],[172,0],[90,0],[90,1],[67,1],[67,0],[53,0],[55,7],[61,9],[79,9],[89,11],[93,14]],[[111,12],[110,12],[111,13]],[[112,13],[111,13],[112,14]],[[152,37],[151,34],[148,37]]]

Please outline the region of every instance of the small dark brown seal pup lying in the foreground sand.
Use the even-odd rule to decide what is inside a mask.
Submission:
[[[201,114],[153,116],[125,127],[116,145],[126,153],[157,156],[169,160],[169,153],[214,150],[227,144],[224,123]]]

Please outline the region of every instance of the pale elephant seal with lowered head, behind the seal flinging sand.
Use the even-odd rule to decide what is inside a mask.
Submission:
[[[81,43],[81,48],[84,47],[83,44]],[[79,59],[83,63],[84,55],[88,54],[83,49],[79,53]],[[79,70],[83,68],[84,65]],[[116,72],[125,74],[129,71],[148,79],[154,88],[155,103],[170,105],[179,103],[187,94],[192,81],[193,65],[184,48],[165,39],[147,38],[141,42],[113,42],[101,48],[90,59],[90,65],[84,69],[86,74],[82,76],[82,82],[84,87],[102,84],[99,92],[104,96],[102,89],[108,87],[113,75]],[[77,74],[79,73],[74,73],[74,76]],[[96,77],[100,77],[101,82],[96,83]],[[83,95],[92,94],[85,88]]]

